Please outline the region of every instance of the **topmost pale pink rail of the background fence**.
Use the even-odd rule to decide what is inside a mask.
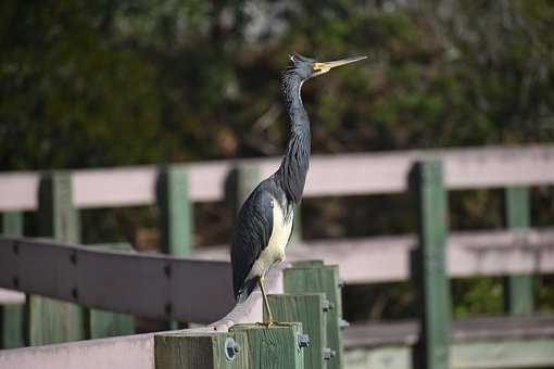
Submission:
[[[554,148],[487,148],[314,155],[305,196],[398,193],[407,189],[412,165],[436,158],[444,163],[448,189],[499,188],[554,183]],[[245,160],[260,165],[261,175],[274,173],[280,158]],[[189,170],[190,199],[218,201],[237,161],[184,165]],[[153,204],[160,169],[138,166],[73,170],[73,203],[78,208]],[[344,180],[348,178],[349,180]],[[0,212],[38,207],[39,173],[0,175]]]

